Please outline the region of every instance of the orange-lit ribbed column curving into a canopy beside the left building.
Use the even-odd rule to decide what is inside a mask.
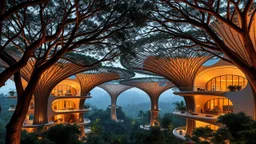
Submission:
[[[87,64],[91,63],[90,61]],[[31,59],[21,70],[21,75],[26,81],[30,81],[35,60]],[[100,65],[92,67],[78,66],[68,60],[60,59],[56,64],[47,69],[42,75],[34,92],[35,110],[33,124],[48,123],[47,108],[48,98],[52,89],[62,80],[76,73],[89,69],[97,68]]]

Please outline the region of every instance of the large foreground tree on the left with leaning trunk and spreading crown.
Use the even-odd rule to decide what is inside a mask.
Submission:
[[[6,143],[19,143],[22,123],[41,75],[71,51],[98,58],[95,63],[81,65],[74,57],[65,57],[85,67],[127,52],[128,35],[132,34],[127,29],[133,28],[134,23],[143,23],[137,18],[147,16],[142,7],[145,8],[143,1],[49,1],[24,8],[4,21],[2,33],[8,49],[1,59],[9,66],[0,74],[0,84],[14,74],[18,95],[16,110],[6,126]],[[20,29],[21,33],[12,39],[12,33]],[[18,57],[11,55],[14,52]],[[36,63],[23,88],[20,70],[31,58]]]

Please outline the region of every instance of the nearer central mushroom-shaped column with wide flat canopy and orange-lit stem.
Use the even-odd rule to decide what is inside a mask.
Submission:
[[[123,80],[120,83],[124,84],[124,85],[137,87],[137,88],[145,91],[148,94],[148,96],[150,97],[150,101],[151,101],[150,126],[155,126],[155,125],[159,124],[159,121],[158,121],[158,112],[159,112],[158,99],[159,99],[159,96],[164,91],[166,91],[167,89],[170,89],[171,87],[174,87],[175,85],[164,78],[156,78],[156,77],[134,78],[134,79],[129,79],[129,80]]]

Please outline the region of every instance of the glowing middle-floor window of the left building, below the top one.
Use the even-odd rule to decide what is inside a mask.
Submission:
[[[72,110],[75,109],[75,103],[69,100],[59,100],[52,104],[53,110]]]

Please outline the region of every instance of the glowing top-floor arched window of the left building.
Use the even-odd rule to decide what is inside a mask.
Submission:
[[[51,95],[53,96],[75,96],[76,89],[70,85],[57,85],[53,88]]]

